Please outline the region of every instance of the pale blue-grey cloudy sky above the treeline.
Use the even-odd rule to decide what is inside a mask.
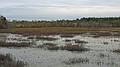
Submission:
[[[120,0],[0,0],[9,19],[75,19],[120,16]]]

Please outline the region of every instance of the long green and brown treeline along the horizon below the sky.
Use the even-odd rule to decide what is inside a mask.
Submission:
[[[56,21],[7,21],[8,27],[14,28],[40,28],[40,27],[120,27],[120,17],[88,17],[77,18],[76,20]]]

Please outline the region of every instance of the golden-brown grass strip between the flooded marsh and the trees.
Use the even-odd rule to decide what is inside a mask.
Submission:
[[[120,28],[42,27],[0,29],[0,33],[60,34],[83,32],[120,32]]]

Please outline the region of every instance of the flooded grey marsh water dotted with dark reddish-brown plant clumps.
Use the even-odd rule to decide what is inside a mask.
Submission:
[[[4,36],[3,36],[4,34]],[[61,37],[61,35],[34,35],[46,39],[29,38],[22,34],[1,33],[1,43],[13,43],[9,41],[16,38],[14,45],[0,47],[1,54],[12,54],[16,60],[26,62],[28,67],[119,67],[120,66],[120,38],[116,36],[93,37],[91,34],[77,34],[74,37]],[[69,34],[70,35],[70,34]],[[93,34],[92,34],[93,35]],[[13,37],[14,36],[14,37]],[[47,38],[48,37],[48,38]],[[9,39],[7,39],[9,38]],[[18,38],[18,40],[17,40]],[[19,38],[21,40],[19,40]],[[3,40],[4,39],[4,40]],[[23,40],[22,40],[23,39]],[[24,39],[26,39],[24,41]],[[66,41],[69,40],[69,41]],[[117,40],[117,41],[116,41]],[[22,41],[27,47],[17,47]],[[77,42],[76,42],[77,41]],[[78,42],[79,41],[79,42]],[[30,43],[30,45],[28,44]],[[87,51],[78,51],[74,45],[83,45]],[[61,46],[71,46],[72,51],[61,49]],[[42,47],[39,47],[42,46]],[[77,48],[78,49],[78,48]],[[81,49],[81,48],[79,48]]]

